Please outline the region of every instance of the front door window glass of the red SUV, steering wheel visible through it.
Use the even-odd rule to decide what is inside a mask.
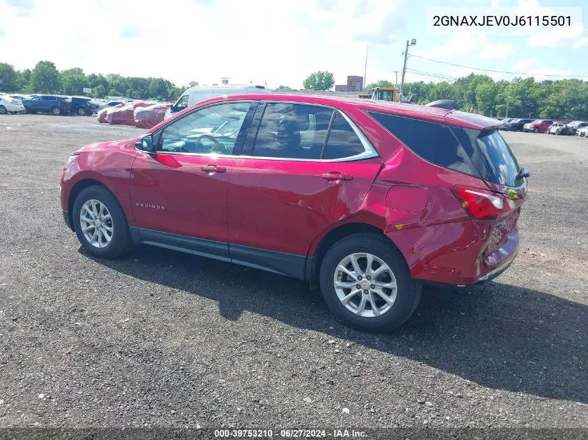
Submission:
[[[158,150],[232,154],[251,102],[217,104],[194,111],[164,128]]]

